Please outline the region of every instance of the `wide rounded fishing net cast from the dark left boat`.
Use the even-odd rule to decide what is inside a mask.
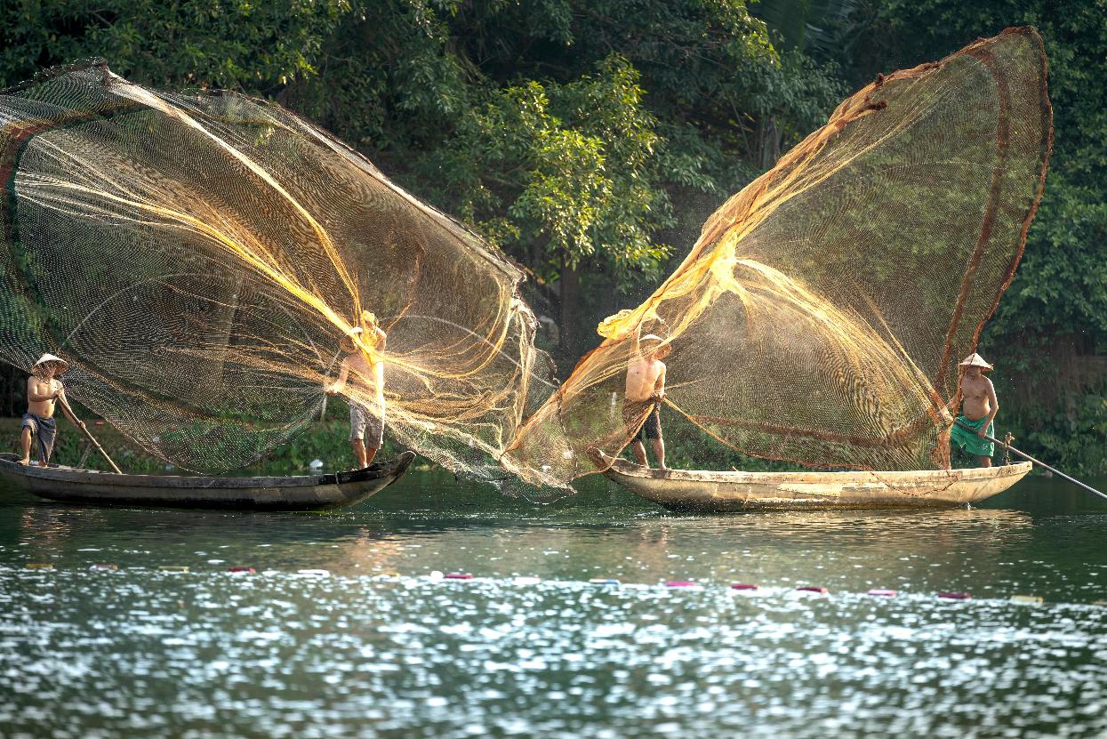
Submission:
[[[275,104],[163,93],[101,62],[0,94],[0,358],[190,470],[263,455],[342,389],[459,472],[549,396],[523,273]],[[375,327],[386,332],[377,345]],[[361,329],[361,332],[358,332]]]

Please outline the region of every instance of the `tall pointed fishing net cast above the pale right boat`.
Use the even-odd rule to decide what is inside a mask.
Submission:
[[[948,466],[956,363],[1018,264],[1051,144],[1033,29],[878,78],[724,204],[642,306],[601,325],[506,463],[551,484],[610,463],[651,409],[623,397],[641,331],[672,348],[664,404],[737,450]]]

